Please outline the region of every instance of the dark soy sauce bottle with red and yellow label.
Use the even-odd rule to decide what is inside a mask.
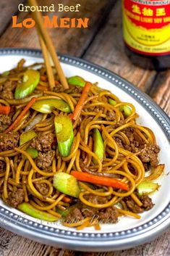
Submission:
[[[122,0],[125,51],[145,69],[170,67],[170,0]]]

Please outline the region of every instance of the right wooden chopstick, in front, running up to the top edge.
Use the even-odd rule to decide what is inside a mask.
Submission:
[[[36,0],[29,0],[29,3],[30,3],[30,6],[33,6],[33,7],[38,6]],[[33,14],[33,17],[34,17],[34,20],[35,20],[36,24],[38,25],[38,28],[39,28],[40,32],[41,32],[41,36],[43,37],[43,41],[46,44],[46,47],[47,47],[49,53],[51,54],[51,58],[54,61],[54,66],[55,66],[56,71],[59,75],[59,80],[61,81],[61,85],[63,86],[64,89],[67,89],[67,88],[69,88],[68,83],[67,83],[67,79],[64,76],[64,72],[61,68],[59,58],[56,54],[56,50],[55,50],[54,45],[51,41],[51,38],[48,35],[48,32],[47,32],[46,28],[43,27],[43,17],[41,15],[41,13],[37,12],[37,11],[33,12],[32,14]]]

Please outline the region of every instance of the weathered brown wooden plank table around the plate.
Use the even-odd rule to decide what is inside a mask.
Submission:
[[[12,15],[18,12],[17,5],[21,0],[0,1],[0,47],[30,47],[40,48],[35,29],[12,28]],[[76,0],[41,0],[41,5],[76,4]],[[102,67],[114,71],[145,91],[160,107],[170,115],[170,70],[156,72],[143,70],[132,65],[124,54],[122,41],[122,17],[120,0],[81,0],[80,12],[70,12],[65,15],[60,12],[59,17],[89,17],[88,29],[51,29],[57,51],[70,54],[94,62]],[[76,15],[75,15],[76,14]],[[30,17],[27,12],[17,14],[20,20]],[[16,234],[0,228],[0,256],[169,256],[170,229],[158,239],[133,249],[119,252],[73,252],[54,248],[45,244],[38,244]]]

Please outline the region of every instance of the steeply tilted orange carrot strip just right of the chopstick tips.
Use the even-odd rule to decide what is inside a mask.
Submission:
[[[90,87],[92,86],[92,83],[86,82],[85,87],[82,89],[82,95],[80,96],[79,101],[77,102],[77,105],[75,107],[75,111],[72,114],[72,120],[77,120],[77,118],[80,116],[80,112],[82,111],[82,107],[85,104],[85,100],[88,96],[88,92],[90,91]]]

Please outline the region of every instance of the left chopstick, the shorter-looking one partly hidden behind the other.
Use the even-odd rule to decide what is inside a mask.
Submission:
[[[48,54],[48,50],[46,49],[46,44],[44,44],[43,38],[41,37],[41,35],[39,33],[38,33],[38,37],[39,37],[41,49],[43,52],[44,62],[46,65],[46,73],[48,75],[48,83],[49,83],[51,91],[53,91],[53,89],[55,87],[55,80],[54,80],[54,74],[53,74],[53,70],[51,67],[50,59],[49,59],[50,57]]]

